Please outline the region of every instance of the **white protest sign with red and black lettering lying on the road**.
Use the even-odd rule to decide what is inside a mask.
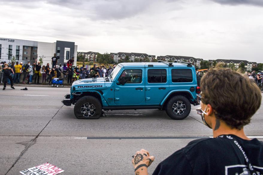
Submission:
[[[62,172],[64,172],[64,170],[61,168],[46,162],[42,165],[20,171],[19,173],[23,175],[56,175]]]

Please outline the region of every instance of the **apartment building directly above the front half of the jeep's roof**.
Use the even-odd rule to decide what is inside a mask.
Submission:
[[[119,63],[120,60],[124,60],[127,56],[129,57],[129,60],[131,62],[139,62],[139,61],[146,61],[147,59],[149,59],[150,62],[152,62],[153,59],[155,59],[155,55],[149,55],[149,54],[144,54],[144,53],[135,53],[135,52],[131,52],[131,53],[127,53],[127,52],[118,52],[118,53],[110,53],[111,55],[111,59],[113,59],[113,61],[115,63]]]

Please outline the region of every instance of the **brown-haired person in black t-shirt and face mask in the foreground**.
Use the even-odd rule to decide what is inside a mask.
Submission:
[[[263,142],[251,140],[243,129],[260,107],[261,92],[247,76],[219,66],[202,77],[198,95],[197,113],[213,130],[213,138],[191,141],[163,160],[153,175],[263,174]],[[152,161],[148,151],[137,151],[132,159],[135,174],[148,174]]]

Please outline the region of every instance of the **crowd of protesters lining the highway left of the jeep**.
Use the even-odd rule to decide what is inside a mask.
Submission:
[[[92,78],[92,77],[107,77],[108,74],[111,74],[113,67],[109,66],[97,66],[94,64],[93,67],[87,69],[87,67],[83,64],[81,67],[79,65],[73,66],[74,57],[69,59],[67,64],[63,66],[61,64],[57,65],[58,59],[54,54],[52,57],[52,67],[49,66],[49,63],[43,65],[41,67],[40,62],[35,60],[35,63],[31,64],[28,62],[27,64],[23,64],[23,62],[1,62],[0,64],[0,80],[1,83],[4,83],[4,88],[6,88],[6,84],[10,84],[11,88],[14,89],[13,83],[20,83],[20,77],[22,78],[23,84],[32,84],[33,80],[35,84],[40,84],[39,80],[42,77],[42,84],[51,85],[53,78],[67,79],[67,84],[72,84],[76,80]]]

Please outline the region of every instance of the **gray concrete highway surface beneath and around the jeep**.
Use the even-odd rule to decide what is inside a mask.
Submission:
[[[62,168],[61,175],[132,175],[132,155],[144,148],[159,162],[198,138],[212,136],[192,106],[181,121],[165,111],[119,110],[98,120],[75,118],[73,107],[61,101],[68,87],[25,86],[2,91],[0,84],[0,175],[46,162]],[[245,132],[263,141],[263,102]]]

